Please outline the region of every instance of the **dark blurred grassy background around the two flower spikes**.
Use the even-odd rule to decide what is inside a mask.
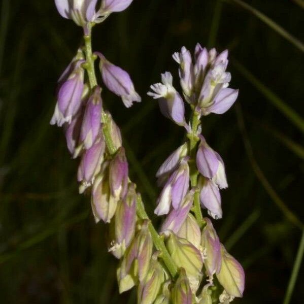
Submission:
[[[143,97],[127,110],[103,94],[149,214],[159,193],[155,172],[184,137],[146,95],[149,85],[164,71],[177,76],[172,53],[183,45],[229,49],[237,104],[202,122],[229,183],[216,228],[245,268],[244,298],[235,302],[281,303],[301,239],[288,212],[303,219],[304,211],[297,117],[303,46],[290,42],[290,35],[304,40],[303,6],[301,0],[246,3],[280,24],[287,39],[232,0],[134,0],[94,28],[93,49],[127,70]],[[50,0],[3,0],[1,9],[0,301],[135,303],[134,291],[118,294],[105,225],[94,224],[89,196],[78,194],[78,160],[70,158],[62,130],[49,125],[56,81],[81,43],[81,28],[61,18]],[[302,270],[291,303],[303,302]]]

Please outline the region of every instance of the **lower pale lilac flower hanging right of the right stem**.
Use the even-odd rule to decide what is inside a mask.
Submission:
[[[222,218],[221,194],[218,186],[212,180],[205,179],[200,191],[200,203],[214,219]]]

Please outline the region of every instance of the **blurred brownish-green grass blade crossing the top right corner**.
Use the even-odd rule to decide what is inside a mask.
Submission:
[[[251,14],[256,16],[258,19],[260,19],[266,25],[268,25],[269,27],[274,29],[279,35],[281,35],[287,41],[292,43],[299,50],[304,52],[304,44],[301,41],[299,41],[297,38],[292,36],[291,33],[289,33],[287,30],[285,30],[281,25],[279,25],[278,23],[276,23],[275,21],[273,21],[272,19],[270,19],[269,17],[267,17],[266,15],[264,15],[263,13],[258,11],[257,9],[253,8],[249,4],[243,2],[242,0],[225,0],[225,1],[235,3],[239,6],[241,6],[242,8],[244,8],[245,10],[249,11]]]

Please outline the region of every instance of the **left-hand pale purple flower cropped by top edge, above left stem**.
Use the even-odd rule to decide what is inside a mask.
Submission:
[[[84,26],[96,18],[97,0],[55,0],[59,14],[66,19],[73,19],[77,25]]]

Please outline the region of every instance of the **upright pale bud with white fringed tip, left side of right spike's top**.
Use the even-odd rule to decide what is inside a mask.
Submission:
[[[193,89],[193,66],[190,52],[182,47],[181,52],[173,54],[174,60],[180,64],[179,76],[181,87],[186,96],[190,97]]]

